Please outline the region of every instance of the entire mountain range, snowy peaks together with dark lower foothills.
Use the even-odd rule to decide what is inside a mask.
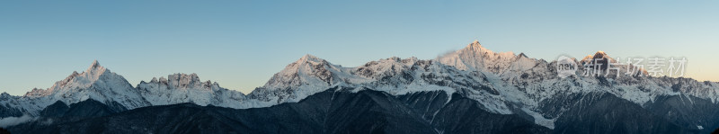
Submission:
[[[598,52],[588,58],[611,60]],[[574,62],[581,64],[583,60]],[[709,133],[719,85],[557,76],[557,62],[477,41],[435,59],[342,67],[311,55],[250,94],[173,74],[132,86],[97,61],[48,89],[0,94],[13,133]],[[646,73],[638,70],[637,73]]]

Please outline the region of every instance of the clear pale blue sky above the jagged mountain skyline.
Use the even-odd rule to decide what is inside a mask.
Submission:
[[[717,1],[2,1],[0,92],[48,88],[93,59],[132,85],[173,73],[249,93],[305,54],[355,67],[473,40],[552,60],[686,57],[719,81]]]

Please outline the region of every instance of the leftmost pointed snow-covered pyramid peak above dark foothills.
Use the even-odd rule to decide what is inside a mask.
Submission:
[[[32,106],[33,108],[43,108],[57,101],[71,104],[87,99],[102,103],[120,103],[127,109],[148,105],[124,77],[100,66],[97,60],[93,61],[93,64],[83,73],[73,72],[52,87],[32,89],[24,97],[39,100],[34,102],[36,106]],[[28,110],[32,111],[33,109],[28,108]]]

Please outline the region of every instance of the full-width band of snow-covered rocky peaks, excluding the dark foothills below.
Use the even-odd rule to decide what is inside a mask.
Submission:
[[[587,58],[611,59],[601,51]],[[574,61],[581,65],[582,61]],[[195,74],[153,78],[133,87],[125,78],[94,61],[83,73],[74,72],[48,89],[33,89],[22,96],[0,95],[0,110],[5,111],[2,117],[39,115],[52,103],[71,104],[87,99],[127,110],[175,103],[247,109],[297,103],[337,87],[392,95],[422,91],[444,91],[448,96],[461,94],[482,104],[487,112],[525,114],[535,123],[554,129],[555,121],[568,111],[566,103],[557,104],[556,100],[576,94],[608,93],[642,106],[667,96],[684,96],[688,103],[693,103],[691,98],[711,103],[719,99],[719,85],[715,82],[665,76],[581,76],[581,69],[576,76],[561,78],[557,76],[556,64],[528,58],[523,53],[493,52],[478,41],[435,59],[385,58],[360,67],[342,67],[306,55],[251,94],[243,94],[217,83],[202,82]],[[692,125],[707,123],[697,121]]]

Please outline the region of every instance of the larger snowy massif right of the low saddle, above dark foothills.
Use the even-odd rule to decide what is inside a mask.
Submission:
[[[607,53],[599,51],[584,59],[601,58],[616,63]],[[582,65],[585,61],[576,61]],[[305,56],[288,65],[264,86],[253,91],[253,102],[270,106],[294,103],[309,94],[326,88],[363,87],[389,94],[443,90],[458,93],[482,103],[489,112],[515,114],[521,112],[535,118],[537,124],[554,128],[559,113],[543,112],[543,101],[571,94],[610,93],[644,105],[658,96],[689,95],[715,102],[719,87],[713,82],[697,82],[689,78],[652,76],[576,76],[560,78],[556,61],[528,58],[512,52],[493,52],[478,41],[431,60],[417,58],[386,58],[370,61],[360,67],[341,67],[324,59]],[[635,67],[635,66],[630,66]],[[601,67],[601,68],[606,68]],[[629,67],[620,67],[627,70]],[[645,75],[644,70],[635,74]],[[616,75],[617,72],[610,72]]]

